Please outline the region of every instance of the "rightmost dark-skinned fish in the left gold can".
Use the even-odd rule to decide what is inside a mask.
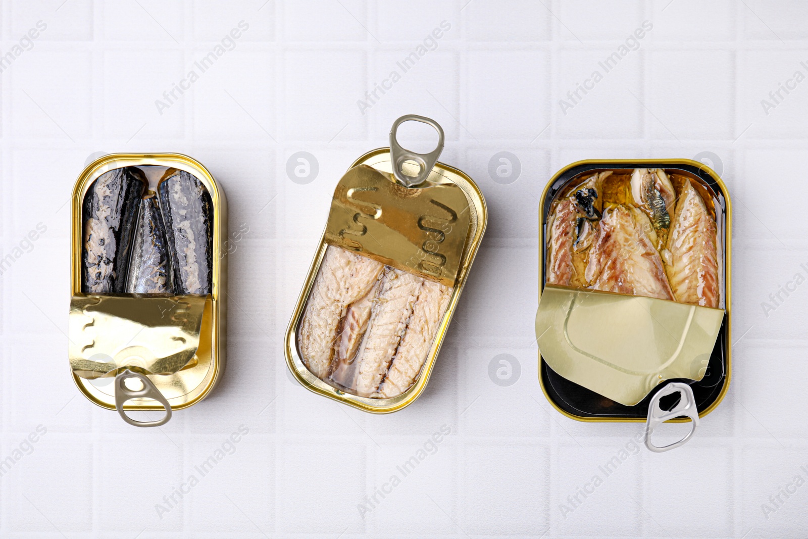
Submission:
[[[208,190],[194,175],[170,169],[161,180],[158,192],[176,293],[211,293],[213,203]]]

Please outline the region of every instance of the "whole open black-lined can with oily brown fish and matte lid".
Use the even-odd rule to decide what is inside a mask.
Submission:
[[[642,171],[642,175],[638,171]],[[650,181],[642,183],[644,177]],[[657,187],[664,190],[660,180],[674,187],[672,202],[667,200],[670,214],[665,211],[666,200],[654,187],[656,181]],[[603,183],[595,189],[595,181]],[[624,183],[622,187],[620,182]],[[638,188],[640,185],[643,187]],[[676,221],[680,217],[680,208],[683,221],[692,217],[690,206],[683,204],[683,208],[678,205],[684,200],[685,190],[690,196],[696,193],[695,196],[701,197],[704,204],[699,208],[714,220],[714,228],[710,230],[714,230],[711,234],[714,234],[716,246],[708,256],[708,262],[714,263],[718,271],[708,284],[713,297],[702,301],[694,300],[693,296],[692,301],[686,301],[676,295],[666,297],[667,292],[654,296],[653,287],[643,288],[633,296],[621,295],[626,293],[621,291],[625,284],[623,276],[604,275],[608,271],[617,272],[615,267],[620,267],[624,261],[612,261],[612,267],[606,268],[601,263],[593,270],[592,266],[597,266],[597,262],[593,263],[592,258],[604,253],[609,255],[609,248],[614,250],[612,255],[618,253],[624,259],[631,258],[641,247],[633,252],[627,247],[625,252],[629,255],[626,256],[613,244],[607,245],[615,241],[607,238],[608,234],[617,233],[614,229],[604,229],[600,220],[606,221],[608,213],[613,222],[618,212],[624,217],[629,216],[629,221],[631,212],[638,216],[635,217],[637,223],[645,220],[643,222],[650,225],[646,228],[653,241],[645,238],[642,242],[648,242],[659,251],[654,255],[651,249],[646,255],[648,258],[659,257],[659,262],[654,263],[658,272],[660,267],[664,270],[662,280],[666,272],[669,280],[671,276],[673,278],[672,283],[661,286],[664,288],[670,284],[672,288],[667,288],[667,291],[672,289],[676,293],[679,290],[677,285],[684,290],[684,284],[680,282],[680,276],[675,275],[675,269],[671,269],[676,261],[671,260],[671,251],[667,247],[675,244],[675,248],[679,248],[684,241],[671,236],[681,233],[681,228],[677,228],[680,221]],[[609,197],[620,200],[610,200]],[[643,202],[634,204],[634,199]],[[693,200],[698,202],[695,198]],[[561,279],[562,283],[558,285],[558,260],[561,257],[553,255],[552,251],[558,251],[556,244],[561,241],[558,234],[563,230],[556,221],[560,204],[570,204],[578,212],[567,230],[573,258],[578,256],[574,251],[579,248],[579,242],[586,243],[580,247],[582,251],[589,251],[586,259],[581,259],[578,270],[573,268],[574,276]],[[620,208],[614,209],[617,206]],[[677,213],[674,213],[674,208]],[[692,436],[699,417],[718,406],[730,384],[731,217],[730,196],[722,179],[708,166],[690,159],[587,160],[574,162],[553,175],[541,196],[541,292],[537,313],[539,380],[553,407],[579,421],[645,421],[646,446],[652,451],[678,447]],[[594,235],[586,238],[587,233]],[[665,238],[668,238],[667,243]],[[593,254],[595,249],[600,251]],[[715,260],[712,255],[715,255]],[[685,262],[680,261],[680,266],[688,267],[688,256],[684,255]],[[684,278],[691,278],[687,271]],[[620,282],[611,287],[608,284],[596,286],[591,280],[596,272],[600,272],[603,280],[612,278]],[[701,279],[701,274],[698,279]],[[702,288],[705,287],[699,289],[699,294],[703,293]],[[626,327],[629,323],[633,327]],[[641,331],[646,333],[638,337]],[[629,336],[636,339],[635,342],[626,342]],[[625,356],[633,357],[624,359]],[[678,401],[675,394],[680,395]],[[693,425],[683,440],[659,448],[650,441],[650,433],[666,420],[692,420]]]

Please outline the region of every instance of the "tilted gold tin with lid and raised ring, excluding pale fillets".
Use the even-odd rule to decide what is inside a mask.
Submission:
[[[398,146],[395,133],[398,125],[406,120],[420,121],[436,128],[440,141],[435,151],[428,155],[420,155]],[[443,149],[443,139],[443,130],[434,120],[429,120],[422,116],[402,116],[393,124],[393,130],[390,133],[391,147],[374,149],[356,159],[337,185],[326,230],[314,254],[314,260],[311,267],[309,267],[309,273],[306,276],[284,338],[286,364],[297,381],[308,390],[363,411],[386,414],[410,405],[427,386],[429,376],[440,351],[440,345],[446,335],[469,269],[482,241],[487,221],[485,200],[473,180],[462,171],[436,161],[440,150]],[[398,174],[395,171],[393,162],[398,163]],[[406,175],[403,175],[402,172],[406,172]],[[418,179],[412,182],[411,185],[419,188],[410,190],[414,196],[406,196],[406,191],[403,190],[408,190],[410,187],[406,187],[404,182],[410,183],[410,180],[413,180],[413,177],[416,176]],[[366,187],[372,182],[376,182],[375,187]],[[455,234],[447,233],[445,236],[441,235],[440,239],[433,242],[431,246],[427,246],[427,242],[424,242],[422,246],[419,242],[424,237],[419,233],[423,234],[424,230],[430,229],[427,221],[428,217],[425,217],[429,213],[423,211],[423,204],[427,204],[429,200],[427,200],[426,196],[416,196],[415,192],[427,193],[429,188],[436,185],[452,187],[456,191],[455,195],[461,194],[463,207],[455,210],[450,209],[449,211],[460,216],[460,219],[453,223],[454,225],[457,225],[457,222],[465,215],[465,229],[463,234],[458,234],[457,231]],[[457,187],[459,187],[459,190],[457,190]],[[363,202],[351,201],[353,193],[363,191],[373,191],[381,194],[378,194],[378,198],[372,200],[372,202],[369,200],[364,200]],[[388,194],[398,192],[399,195],[402,193],[404,195],[385,199],[385,194],[382,192],[387,192]],[[437,198],[437,196],[434,197],[434,199]],[[419,206],[419,203],[413,202],[413,200],[420,200],[421,205]],[[444,208],[452,205],[448,200],[444,200],[444,202],[448,204]],[[361,204],[364,204],[364,208],[361,207]],[[345,210],[349,211],[346,212]],[[357,212],[356,214],[354,213],[355,211]],[[385,216],[385,214],[388,214],[389,217]],[[367,219],[365,220],[362,217],[367,217]],[[392,229],[397,229],[398,227],[395,234],[390,234],[389,229],[382,229],[381,224],[378,223],[378,221],[384,221],[385,218],[389,220],[388,225],[390,225],[390,221],[395,223],[391,226]],[[374,226],[377,228],[372,228]],[[354,229],[351,229],[351,227]],[[356,229],[359,227],[364,227],[364,230],[359,229],[357,231]],[[356,241],[355,238],[364,237],[361,234],[365,234],[368,227],[372,229],[372,233],[378,235],[380,240],[374,242],[372,246],[369,245],[370,242],[368,241],[363,246],[362,242]],[[372,236],[372,234],[368,234],[368,236]],[[452,242],[454,243],[452,244]],[[423,366],[419,370],[419,375],[408,389],[397,396],[392,398],[370,398],[351,394],[344,390],[345,388],[340,389],[315,376],[314,373],[309,371],[302,359],[298,343],[301,322],[305,316],[309,295],[312,293],[323,260],[326,258],[326,251],[330,246],[332,246],[331,248],[340,246],[346,250],[361,252],[368,258],[376,259],[378,262],[389,264],[402,271],[436,280],[446,286],[452,286],[448,297],[448,305],[440,318],[436,336],[431,341],[431,347],[426,359],[423,361]],[[418,253],[413,251],[416,246],[420,246]],[[442,256],[438,251],[441,251],[443,247],[446,247],[446,251],[442,251],[446,256],[443,259],[444,271],[441,271],[437,267],[440,266],[440,263],[432,262],[436,260],[436,256]],[[455,251],[452,251],[452,249]],[[455,266],[448,270],[447,268],[452,266],[452,262]]]

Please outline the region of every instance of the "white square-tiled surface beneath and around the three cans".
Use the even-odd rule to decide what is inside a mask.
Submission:
[[[808,7],[466,1],[2,2],[3,53],[48,25],[0,74],[0,254],[47,226],[0,277],[0,459],[47,428],[0,478],[2,537],[806,536],[808,486],[768,519],[761,505],[797,474],[808,480],[808,285],[762,306],[808,277],[808,82],[768,115],[760,102],[808,74]],[[155,100],[241,20],[234,50],[160,114]],[[363,115],[357,100],[444,20],[438,48]],[[563,114],[558,100],[643,20],[653,30],[638,50]],[[281,339],[335,183],[407,113],[443,125],[441,160],[478,182],[490,222],[427,390],[372,416],[292,382]],[[165,427],[137,429],[69,377],[65,203],[90,154],[161,151],[207,166],[230,228],[250,232],[229,260],[221,385]],[[286,174],[297,151],[318,160],[311,183]],[[518,157],[516,182],[490,178],[499,151]],[[538,197],[579,159],[704,151],[718,155],[734,206],[730,391],[690,443],[631,455],[565,517],[560,505],[641,427],[577,423],[541,394]],[[521,368],[507,387],[488,375],[503,353]],[[249,434],[235,453],[158,516],[240,425]],[[360,516],[443,425],[437,452]]]

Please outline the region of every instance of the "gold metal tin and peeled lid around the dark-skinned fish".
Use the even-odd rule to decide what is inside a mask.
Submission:
[[[185,171],[196,177],[207,190],[213,214],[213,225],[210,227],[212,235],[210,293],[200,296],[174,295],[173,297],[167,297],[170,294],[163,294],[163,297],[149,297],[142,294],[104,294],[103,300],[107,301],[104,305],[108,305],[108,308],[103,318],[98,317],[94,322],[81,323],[83,322],[82,316],[86,316],[82,314],[82,310],[85,310],[86,313],[87,305],[98,301],[97,296],[82,292],[84,236],[82,219],[85,196],[90,186],[101,175],[128,166],[144,167],[144,170],[147,170],[147,167],[149,170],[154,167],[154,170]],[[90,402],[107,410],[117,409],[127,423],[139,427],[158,426],[170,419],[172,410],[183,410],[207,397],[225,370],[227,278],[227,257],[225,256],[227,201],[225,192],[200,162],[187,155],[107,154],[91,162],[78,176],[73,190],[72,208],[69,355],[73,381],[78,390]],[[116,301],[118,303],[115,303]],[[124,318],[134,320],[140,317],[137,322],[141,322],[143,334],[147,334],[153,324],[157,326],[165,323],[160,322],[160,318],[165,316],[167,309],[175,308],[177,305],[187,306],[188,302],[191,302],[191,309],[187,309],[187,311],[191,311],[191,316],[196,315],[196,327],[191,327],[191,336],[196,347],[187,347],[187,350],[184,351],[187,357],[182,360],[184,363],[167,368],[169,373],[149,373],[148,369],[139,368],[137,361],[133,364],[119,366],[102,376],[96,376],[99,373],[91,373],[93,368],[98,368],[91,362],[86,363],[90,365],[89,367],[82,369],[81,362],[86,360],[88,353],[84,349],[94,346],[96,344],[94,339],[97,339],[99,335],[103,335],[103,343],[110,351],[120,351],[130,342],[141,339],[137,334],[121,331],[124,327],[121,321]],[[116,309],[122,314],[120,318],[115,316]],[[136,311],[137,314],[130,317],[129,313],[132,311]],[[177,315],[172,314],[172,318],[177,318]],[[99,321],[101,327],[93,327],[98,326]],[[183,328],[179,328],[179,322],[176,325],[178,326],[176,331],[187,335],[186,332],[183,332]],[[88,334],[87,331],[95,332]],[[183,337],[171,336],[170,339],[179,340]],[[149,347],[148,342],[145,344],[146,347]],[[154,343],[154,345],[157,347],[158,343]],[[165,348],[164,344],[163,347]],[[104,352],[103,355],[112,356],[113,354]],[[116,377],[113,378],[113,376]],[[133,390],[130,384],[124,383],[126,378],[140,379],[141,389]],[[114,383],[110,383],[111,381]],[[118,394],[117,399],[116,393]],[[163,410],[166,411],[164,419],[147,422],[128,418],[124,413],[124,411]]]

